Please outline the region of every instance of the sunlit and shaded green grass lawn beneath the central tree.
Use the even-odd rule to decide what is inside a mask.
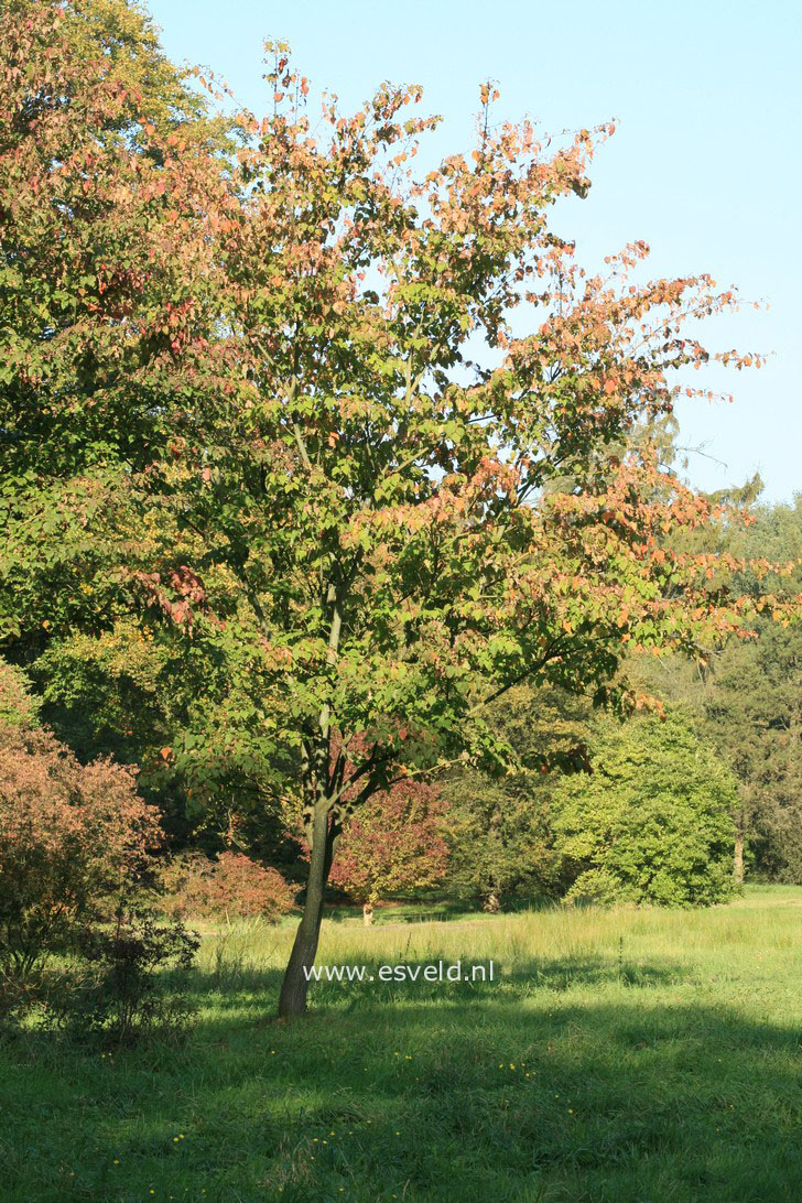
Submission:
[[[325,925],[321,962],[488,961],[493,984],[321,984],[272,1020],[291,925],[210,935],[183,1047],[0,1048],[0,1198],[802,1198],[802,889],[703,912]]]

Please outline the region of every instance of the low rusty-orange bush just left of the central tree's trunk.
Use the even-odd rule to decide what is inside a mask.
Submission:
[[[277,921],[295,903],[296,889],[275,869],[238,852],[218,860],[202,853],[177,858],[162,873],[164,909],[173,915],[261,915]]]

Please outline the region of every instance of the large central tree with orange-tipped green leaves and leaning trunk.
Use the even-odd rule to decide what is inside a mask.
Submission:
[[[123,586],[215,680],[228,674],[227,740],[277,796],[303,795],[307,901],[279,1005],[295,1015],[354,808],[455,763],[505,768],[512,751],[485,712],[516,683],[625,710],[625,647],[695,651],[743,614],[727,561],[659,545],[715,508],[647,445],[619,450],[640,419],[670,410],[669,373],[709,358],[684,320],[732,294],[707,277],[630,286],[642,244],[586,275],[548,227],[557,200],[587,191],[611,131],[549,149],[527,123],[494,128],[485,87],[470,158],[415,180],[408,165],[435,124],[408,117],[417,89],[384,87],[347,118],[327,103],[321,137],[284,47],[268,75],[274,109],[242,115],[236,177],[168,154],[152,123],[165,167],[148,166],[153,190],[121,190],[136,201],[125,229],[142,229],[143,205],[172,212],[153,197],[162,180],[179,200],[189,189],[182,249],[162,256],[172,231],[158,243],[158,301],[129,322],[145,366],[135,355],[132,373],[117,371],[88,429],[114,432],[118,492],[156,541],[150,568],[129,551]],[[87,390],[73,360],[58,362],[58,414],[83,429],[97,373]],[[177,558],[176,528],[191,557]],[[173,749],[177,768],[197,751],[195,736]]]

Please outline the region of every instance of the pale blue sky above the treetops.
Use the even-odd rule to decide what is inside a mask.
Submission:
[[[766,499],[802,490],[798,372],[802,250],[802,0],[150,0],[167,53],[210,64],[237,97],[267,111],[262,42],[290,41],[319,90],[355,107],[384,79],[420,83],[446,120],[439,150],[470,146],[477,85],[501,115],[545,130],[618,119],[593,188],[565,214],[580,260],[643,238],[653,274],[708,271],[770,310],[709,324],[720,348],[773,351],[759,372],[709,378],[735,405],[683,403],[683,439],[705,445],[703,488],[759,469]],[[690,383],[699,383],[694,374]]]

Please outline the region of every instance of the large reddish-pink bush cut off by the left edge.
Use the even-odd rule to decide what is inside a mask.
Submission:
[[[161,835],[130,769],[82,766],[34,722],[0,665],[0,976],[16,982],[136,878]]]

